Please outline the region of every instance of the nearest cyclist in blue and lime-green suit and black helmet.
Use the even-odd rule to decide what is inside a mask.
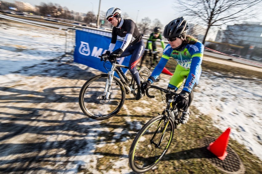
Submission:
[[[184,88],[177,96],[173,104],[183,109],[180,122],[186,124],[189,120],[189,106],[193,100],[193,89],[198,84],[201,74],[201,63],[203,59],[204,45],[192,36],[186,35],[188,29],[187,21],[179,17],[165,26],[164,37],[169,44],[163,51],[162,58],[153,70],[148,81],[141,85],[142,93],[145,95],[147,89],[164,69],[169,58],[177,61],[176,70],[169,81],[168,88],[177,89],[186,78]],[[175,111],[176,112],[176,111]]]

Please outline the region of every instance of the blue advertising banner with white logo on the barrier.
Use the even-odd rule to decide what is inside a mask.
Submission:
[[[111,37],[101,36],[90,32],[76,30],[76,47],[74,51],[74,62],[81,63],[107,73],[108,71],[104,67],[104,61],[100,61],[101,54],[104,54],[111,42]],[[117,40],[115,49],[120,48],[122,42]],[[119,58],[118,62],[121,65],[128,66],[130,56],[125,58]],[[106,67],[111,70],[112,64],[106,63]],[[125,73],[128,69],[122,68]],[[115,73],[116,74],[116,73]]]

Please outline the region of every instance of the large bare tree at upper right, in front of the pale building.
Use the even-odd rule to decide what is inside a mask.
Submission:
[[[192,17],[194,21],[207,26],[204,44],[211,27],[256,17],[258,11],[252,8],[261,7],[262,0],[177,0],[177,2],[175,8],[181,15]]]

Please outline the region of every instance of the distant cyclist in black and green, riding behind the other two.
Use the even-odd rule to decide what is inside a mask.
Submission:
[[[165,43],[162,40],[162,36],[160,34],[160,28],[155,27],[154,32],[150,34],[148,41],[147,41],[147,46],[146,49],[149,50],[149,56],[152,56],[152,48],[153,51],[157,51],[157,46],[156,46],[156,40],[159,39],[161,41],[162,48],[165,48]],[[144,55],[142,56],[140,66],[142,66],[142,62],[145,59],[145,55],[147,54],[147,50],[145,50]],[[154,54],[153,62],[157,59],[157,54]]]

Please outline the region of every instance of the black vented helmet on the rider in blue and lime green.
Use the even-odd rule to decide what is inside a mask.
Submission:
[[[179,37],[185,34],[187,29],[187,21],[185,21],[183,17],[179,17],[165,26],[163,36],[169,39]]]

